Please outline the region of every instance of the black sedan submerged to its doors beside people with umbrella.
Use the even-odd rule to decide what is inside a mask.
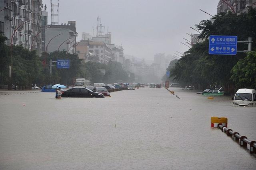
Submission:
[[[93,92],[87,88],[74,87],[62,92],[61,97],[75,97],[75,98],[104,98],[101,93]]]

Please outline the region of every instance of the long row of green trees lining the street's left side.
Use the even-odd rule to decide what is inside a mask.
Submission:
[[[66,51],[54,51],[42,53],[39,57],[36,51],[30,51],[22,45],[10,46],[5,44],[7,38],[0,33],[0,84],[18,86],[20,89],[31,89],[32,84],[38,86],[50,84],[72,85],[72,78],[88,78],[91,83],[112,83],[122,80],[123,82],[134,81],[134,74],[129,74],[123,69],[121,63],[110,60],[106,64],[98,62],[87,62],[79,59],[77,54],[66,53]],[[12,52],[12,53],[11,53]],[[10,57],[12,56],[12,57]],[[46,64],[44,64],[46,59]],[[70,60],[70,68],[52,67],[50,74],[50,60]],[[56,63],[53,63],[56,65]],[[12,78],[9,77],[9,66],[12,65]],[[100,69],[105,70],[103,74]]]

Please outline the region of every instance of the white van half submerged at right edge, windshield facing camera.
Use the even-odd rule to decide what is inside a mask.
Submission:
[[[256,106],[256,90],[240,88],[236,92],[233,100],[233,105]]]

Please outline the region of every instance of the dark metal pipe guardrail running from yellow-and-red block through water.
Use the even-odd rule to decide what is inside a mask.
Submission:
[[[228,136],[232,137],[234,141],[238,141],[241,147],[249,149],[252,154],[256,154],[256,141],[248,140],[246,136],[241,136],[238,132],[233,132],[232,129],[228,129],[221,123],[218,124],[218,128]]]

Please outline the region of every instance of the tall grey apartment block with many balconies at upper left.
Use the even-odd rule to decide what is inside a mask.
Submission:
[[[39,32],[41,29],[41,9],[43,8],[42,0],[0,0],[0,6],[10,6],[0,12],[0,31],[8,39],[6,44],[10,45],[12,39],[12,44],[22,45],[27,49],[31,49],[32,46],[40,55],[42,41]],[[24,24],[22,25],[22,23]],[[32,44],[36,35],[36,41]]]

